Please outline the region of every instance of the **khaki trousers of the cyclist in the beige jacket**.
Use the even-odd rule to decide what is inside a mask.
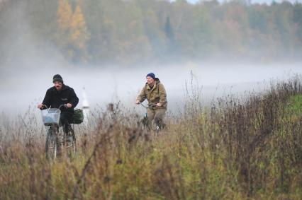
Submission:
[[[166,115],[166,109],[147,109],[147,118],[151,127],[158,125],[161,129],[164,127],[164,116]]]

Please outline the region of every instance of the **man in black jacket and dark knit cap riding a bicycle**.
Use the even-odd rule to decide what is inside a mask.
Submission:
[[[60,105],[66,105],[66,107],[61,107],[60,125],[64,127],[64,132],[67,134],[69,131],[69,123],[72,123],[73,120],[72,114],[74,114],[74,107],[77,106],[79,98],[77,98],[76,93],[74,93],[74,89],[64,84],[60,74],[53,76],[52,83],[54,83],[55,86],[47,90],[45,98],[42,104],[38,105],[38,108],[42,109],[44,106],[59,108]]]

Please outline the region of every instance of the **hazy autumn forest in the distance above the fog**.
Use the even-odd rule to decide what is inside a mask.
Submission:
[[[14,59],[8,49],[18,55],[21,38],[74,64],[293,60],[302,58],[302,4],[0,1],[0,63]]]

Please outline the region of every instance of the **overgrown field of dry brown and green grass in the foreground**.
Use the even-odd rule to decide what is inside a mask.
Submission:
[[[95,112],[77,155],[52,162],[34,114],[2,116],[0,199],[301,199],[301,76],[210,107],[201,96],[157,137],[119,105]]]

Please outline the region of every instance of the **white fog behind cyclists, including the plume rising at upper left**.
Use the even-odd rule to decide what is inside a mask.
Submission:
[[[16,3],[9,8],[11,10],[1,10],[0,26],[0,112],[5,114],[16,115],[28,107],[36,107],[43,101],[46,90],[53,86],[52,76],[57,73],[77,93],[77,107],[82,107],[85,88],[91,110],[120,101],[125,107],[135,107],[140,112],[143,108],[134,102],[150,72],[164,84],[172,112],[183,106],[186,86],[190,88],[191,84],[201,89],[201,100],[207,105],[223,95],[263,91],[272,80],[286,80],[295,73],[302,73],[301,62],[295,61],[251,64],[185,59],[178,64],[73,66],[52,42],[38,39],[26,19],[26,3]]]

